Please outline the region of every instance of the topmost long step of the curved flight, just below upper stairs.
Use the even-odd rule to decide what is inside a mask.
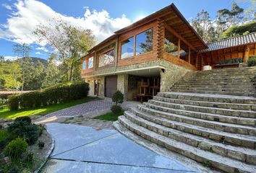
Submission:
[[[232,95],[223,95],[223,94],[200,94],[200,93],[187,93],[187,92],[158,92],[157,96],[171,98],[171,99],[187,99],[187,100],[192,100],[192,101],[223,102],[223,103],[256,105],[255,97],[232,96]]]

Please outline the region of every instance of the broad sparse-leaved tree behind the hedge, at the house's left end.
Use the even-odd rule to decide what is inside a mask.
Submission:
[[[77,68],[80,68],[80,57],[95,45],[95,37],[90,30],[72,27],[59,20],[55,25],[40,25],[35,30],[40,41],[45,41],[54,48],[61,61],[63,81],[74,81]],[[80,75],[80,74],[79,74]]]

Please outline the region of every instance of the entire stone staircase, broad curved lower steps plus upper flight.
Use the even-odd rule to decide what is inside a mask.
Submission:
[[[210,89],[221,89],[219,84],[223,80],[217,75],[219,72],[228,81],[223,88],[227,90],[225,94],[229,95],[219,90],[209,90],[214,94],[208,94],[205,88],[200,90],[205,94],[195,93],[192,89],[178,92],[177,86],[174,86],[176,92],[159,92],[149,102],[125,111],[114,127],[124,135],[126,131],[132,132],[210,169],[234,173],[256,172],[256,98],[247,96],[255,92],[248,89],[244,94],[243,87],[239,91],[232,89],[234,76],[247,80],[236,71],[240,69],[199,71],[188,74],[176,84],[189,86],[184,81],[193,81],[192,76],[196,76],[198,81],[205,75],[210,82],[218,83],[218,87]],[[250,76],[248,86],[252,83],[249,79],[253,79],[253,71],[255,68],[244,71],[244,76]],[[231,72],[234,74],[231,75]]]

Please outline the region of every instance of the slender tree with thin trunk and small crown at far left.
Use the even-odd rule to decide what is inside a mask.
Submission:
[[[30,46],[23,43],[23,44],[16,44],[14,45],[13,51],[17,54],[17,56],[20,56],[22,58],[21,61],[21,68],[22,68],[22,91],[25,84],[25,75],[26,75],[26,69],[27,66],[25,66],[27,63],[25,61],[28,61],[27,58],[30,56]]]

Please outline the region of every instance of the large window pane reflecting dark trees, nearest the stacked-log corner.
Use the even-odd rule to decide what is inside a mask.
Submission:
[[[136,35],[136,56],[153,50],[153,29]]]

